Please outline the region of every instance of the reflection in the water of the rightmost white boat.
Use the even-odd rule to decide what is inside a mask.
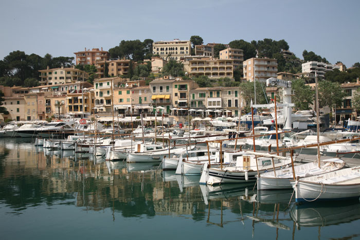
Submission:
[[[360,202],[357,199],[294,205],[290,211],[290,216],[298,229],[300,226],[325,227],[350,223],[360,219]]]

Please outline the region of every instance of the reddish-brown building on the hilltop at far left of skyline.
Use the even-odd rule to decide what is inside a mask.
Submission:
[[[109,60],[110,54],[108,51],[99,48],[86,49],[85,51],[74,52],[76,58],[76,65],[95,65],[97,61]]]

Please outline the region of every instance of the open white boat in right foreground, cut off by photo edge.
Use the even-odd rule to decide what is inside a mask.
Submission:
[[[360,167],[341,169],[291,181],[296,202],[358,199]]]

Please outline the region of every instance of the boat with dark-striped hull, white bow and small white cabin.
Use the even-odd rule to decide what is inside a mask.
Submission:
[[[206,163],[205,163],[206,164]],[[242,183],[256,181],[256,176],[291,164],[290,157],[246,152],[237,157],[235,167],[207,168],[204,166],[200,184]]]

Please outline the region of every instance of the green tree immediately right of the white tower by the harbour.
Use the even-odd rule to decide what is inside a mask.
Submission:
[[[295,95],[292,97],[292,102],[295,104],[296,110],[309,110],[310,104],[314,101],[314,91],[309,85],[305,85],[305,80],[292,80],[292,88]]]

